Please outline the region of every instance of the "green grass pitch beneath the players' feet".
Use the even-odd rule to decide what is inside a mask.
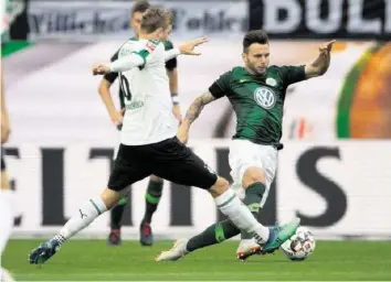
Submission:
[[[205,248],[177,262],[155,262],[171,241],[140,247],[125,241],[107,247],[103,240],[70,240],[41,268],[28,263],[28,253],[41,242],[11,240],[2,264],[17,281],[315,281],[391,280],[388,241],[317,241],[306,261],[292,262],[281,251],[235,259],[236,241]]]

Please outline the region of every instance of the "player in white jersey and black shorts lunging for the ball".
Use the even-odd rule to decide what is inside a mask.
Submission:
[[[138,41],[125,44],[116,62],[93,68],[94,74],[120,73],[120,87],[126,93],[126,113],[114,169],[101,196],[88,199],[55,237],[35,248],[29,256],[30,263],[44,263],[68,238],[113,208],[129,185],[151,174],[207,189],[219,209],[237,228],[252,234],[266,252],[273,252],[296,231],[298,218],[281,226],[278,232],[270,232],[230,189],[228,181],[177,139],[178,122],[171,111],[165,62],[179,54],[197,54],[194,46],[205,40],[191,41],[167,54],[160,41],[168,37],[171,23],[171,12],[150,8],[142,17]]]

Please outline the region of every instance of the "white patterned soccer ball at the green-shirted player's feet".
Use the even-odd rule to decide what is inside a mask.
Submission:
[[[315,250],[314,235],[305,227],[299,226],[296,234],[282,245],[284,254],[293,261],[302,261],[313,254]]]

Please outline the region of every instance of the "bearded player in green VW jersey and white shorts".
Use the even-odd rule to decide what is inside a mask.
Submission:
[[[330,64],[334,42],[320,45],[318,57],[310,64],[270,66],[267,34],[263,30],[250,31],[243,40],[244,67],[236,66],[220,76],[205,94],[192,102],[179,128],[178,138],[186,143],[191,123],[205,105],[224,96],[230,100],[236,113],[236,133],[229,155],[233,188],[242,193],[243,203],[256,218],[275,177],[277,152],[283,149],[279,140],[286,89],[292,84],[324,75]],[[236,256],[240,260],[263,253],[262,247],[255,243],[251,235],[226,219],[190,239],[177,240],[170,250],[163,251],[156,260],[178,260],[197,249],[220,243],[239,234],[241,242]]]

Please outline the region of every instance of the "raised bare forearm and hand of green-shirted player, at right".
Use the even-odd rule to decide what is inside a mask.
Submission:
[[[335,42],[336,41],[334,40],[319,46],[319,55],[313,63],[306,65],[305,67],[306,78],[321,76],[327,72],[330,66],[330,52]]]

